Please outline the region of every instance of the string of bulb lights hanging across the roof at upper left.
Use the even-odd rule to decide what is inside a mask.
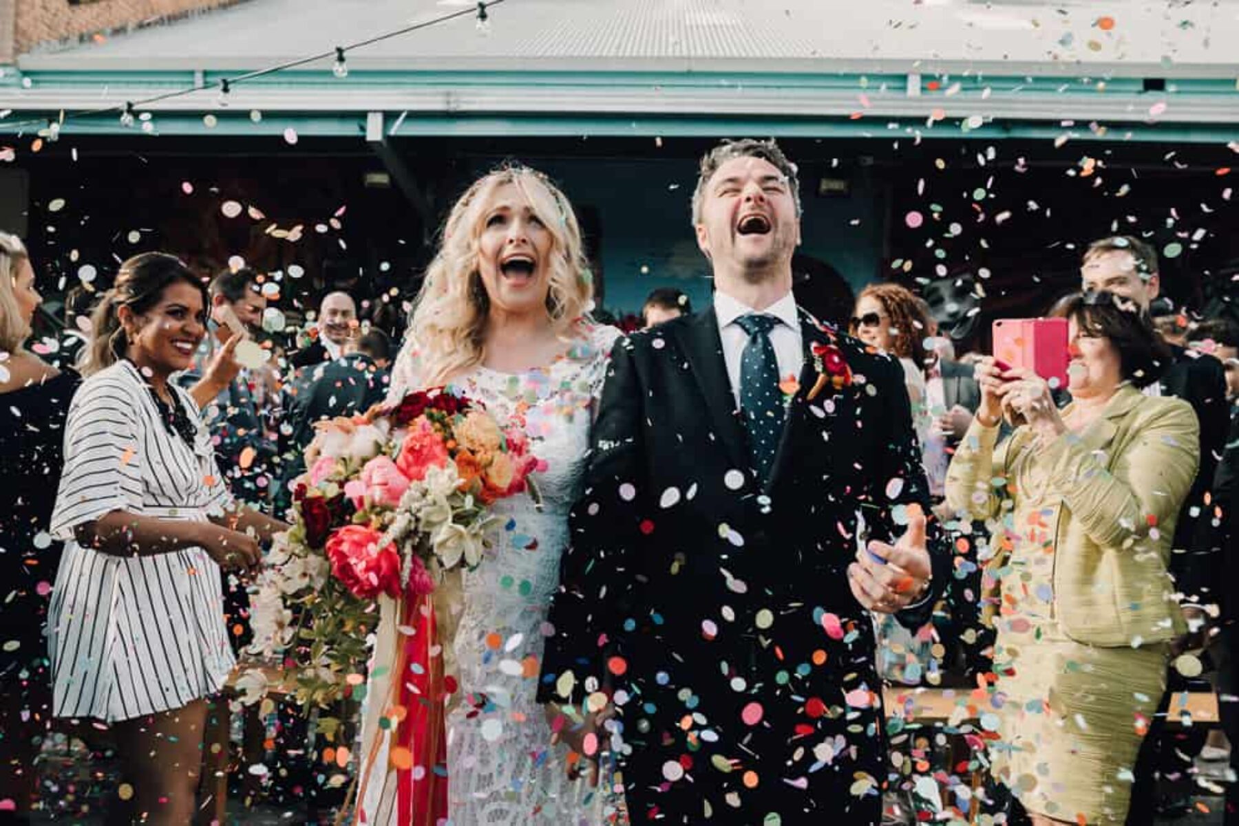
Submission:
[[[59,137],[61,126],[71,120],[81,120],[83,118],[98,118],[99,115],[105,115],[108,113],[120,113],[120,123],[124,126],[133,126],[135,120],[140,116],[140,110],[144,107],[150,107],[155,103],[161,103],[164,100],[171,100],[173,98],[181,98],[190,94],[198,94],[201,92],[208,92],[211,89],[219,89],[219,105],[227,105],[228,95],[232,93],[233,88],[238,83],[245,83],[249,80],[255,80],[258,78],[276,74],[278,72],[285,72],[287,69],[294,69],[309,63],[317,63],[318,61],[325,61],[327,58],[335,58],[332,63],[332,74],[337,78],[348,77],[348,63],[346,54],[353,50],[364,48],[367,46],[373,46],[374,43],[383,42],[385,40],[392,40],[393,37],[400,37],[410,32],[419,31],[421,28],[430,28],[431,26],[437,26],[440,24],[449,22],[451,20],[457,20],[460,17],[467,17],[475,15],[477,17],[477,27],[483,31],[488,31],[491,26],[491,15],[487,9],[491,6],[497,6],[504,0],[478,0],[476,6],[460,9],[458,11],[452,11],[449,14],[432,17],[431,20],[422,20],[421,22],[411,24],[404,26],[403,28],[396,28],[394,31],[383,32],[382,35],[375,35],[373,37],[367,37],[366,40],[359,40],[354,43],[348,43],[344,46],[333,46],[330,51],[318,52],[316,54],[310,54],[307,57],[299,57],[296,59],[285,61],[284,63],[276,63],[274,66],[268,66],[265,68],[254,69],[252,72],[245,72],[230,78],[221,78],[212,83],[202,85],[186,87],[183,89],[173,89],[165,92],[162,94],[156,94],[150,98],[142,98],[140,100],[126,100],[124,104],[113,104],[108,107],[100,107],[98,109],[85,109],[81,111],[64,113],[62,111],[58,118],[47,120],[43,118],[22,120],[16,123],[5,123],[0,120],[0,129],[6,129],[11,131],[20,131],[27,126],[46,126],[45,130],[40,130],[40,135],[45,136],[48,141],[56,141]]]

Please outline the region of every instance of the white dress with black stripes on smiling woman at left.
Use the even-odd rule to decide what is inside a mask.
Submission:
[[[138,369],[121,360],[87,379],[69,407],[52,534],[64,540],[48,612],[57,717],[113,722],[218,691],[235,660],[219,567],[199,547],[113,556],[73,529],[114,510],[206,521],[232,503],[197,405],[195,446],[165,426]]]

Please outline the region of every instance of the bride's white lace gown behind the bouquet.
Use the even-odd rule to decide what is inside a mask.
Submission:
[[[550,598],[567,544],[567,511],[585,471],[591,405],[601,393],[613,327],[591,326],[580,344],[544,369],[522,374],[478,368],[452,388],[483,402],[501,425],[518,422],[534,456],[541,509],[525,495],[502,500],[504,520],[482,563],[463,575],[463,613],[451,643],[460,698],[447,717],[451,826],[576,826],[606,822],[605,785],[565,775],[563,746],[536,702]],[[418,389],[415,348],[396,363],[393,395]],[[445,644],[449,644],[445,641]],[[375,663],[378,665],[378,663]],[[385,760],[385,755],[379,755]],[[367,801],[383,821],[383,806]]]

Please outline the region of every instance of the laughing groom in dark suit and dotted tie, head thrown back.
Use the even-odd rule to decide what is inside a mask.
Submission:
[[[792,297],[799,214],[773,141],[716,147],[712,307],[612,352],[539,700],[587,755],[618,712],[633,822],[877,824],[869,611],[919,627],[949,576],[902,368]]]

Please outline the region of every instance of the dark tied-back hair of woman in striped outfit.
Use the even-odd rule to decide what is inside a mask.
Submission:
[[[202,307],[211,305],[202,280],[167,253],[140,253],[120,265],[116,281],[103,293],[90,315],[90,346],[82,348],[81,370],[90,375],[112,367],[125,357],[129,342],[120,324],[120,308],[135,315],[149,312],[164,297],[164,291],[178,282],[193,285],[202,293]]]

